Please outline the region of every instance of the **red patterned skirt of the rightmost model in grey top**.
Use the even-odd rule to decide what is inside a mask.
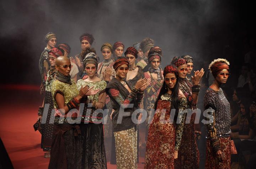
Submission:
[[[215,157],[215,153],[212,150],[210,140],[207,139],[205,169],[230,169],[230,163],[231,163],[230,137],[219,138],[219,144],[220,144],[220,148],[222,150],[222,155],[224,158],[223,162],[220,162],[219,159]]]

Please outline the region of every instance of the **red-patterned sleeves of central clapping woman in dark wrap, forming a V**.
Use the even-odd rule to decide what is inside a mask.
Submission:
[[[112,97],[117,103],[119,106],[122,106],[123,108],[127,108],[128,105],[134,100],[137,98],[137,93],[139,92],[138,89],[136,88],[132,88],[132,91],[130,92],[130,94],[128,95],[127,98],[123,98],[121,93],[119,93],[119,91],[117,89],[113,89],[113,88],[110,88],[110,97]]]

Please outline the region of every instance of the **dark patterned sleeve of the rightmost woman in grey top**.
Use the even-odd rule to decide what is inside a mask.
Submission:
[[[217,130],[215,128],[215,111],[216,108],[214,106],[214,100],[213,95],[211,92],[206,92],[205,98],[204,98],[204,107],[207,111],[208,115],[211,115],[213,117],[212,123],[206,124],[207,132],[210,137],[210,144],[213,147],[213,151],[216,152],[220,150],[219,145],[219,138],[217,136]],[[206,120],[209,121],[210,119],[206,117]]]

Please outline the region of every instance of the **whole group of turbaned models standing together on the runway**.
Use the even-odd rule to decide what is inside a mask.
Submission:
[[[41,147],[46,152],[44,157],[50,158],[49,169],[105,169],[108,147],[112,147],[111,161],[118,169],[136,169],[138,124],[143,117],[141,112],[133,116],[137,109],[146,111],[145,169],[199,168],[195,135],[201,131],[194,123],[196,113],[189,123],[185,121],[186,110],[197,109],[204,70],[194,71],[191,78],[187,76],[194,66],[191,56],[174,57],[163,69],[161,48],[145,38],[126,50],[119,41],[114,45],[103,43],[104,60],[99,63],[91,48],[91,34],[80,36],[81,52],[74,57],[69,56],[71,48],[67,43],[57,46],[54,33],[48,33],[45,42],[47,46],[39,59],[44,100],[38,121],[45,122],[40,124]],[[220,86],[230,75],[229,62],[215,59],[209,70],[214,81],[204,95],[204,109],[213,118],[210,121],[206,116],[210,123],[206,124],[205,168],[228,169],[230,105]],[[44,112],[46,106],[48,112]],[[120,108],[129,115],[119,116]],[[96,111],[99,109],[108,109],[107,115]],[[82,113],[70,113],[75,110]],[[103,119],[107,119],[106,124],[102,124]],[[112,140],[108,141],[110,146],[105,147],[104,138]]]

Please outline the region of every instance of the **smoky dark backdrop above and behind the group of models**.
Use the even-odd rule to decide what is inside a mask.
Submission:
[[[144,37],[162,48],[166,66],[174,56],[191,55],[196,68],[214,58],[230,61],[238,73],[244,55],[255,47],[255,8],[238,0],[86,0],[1,1],[1,83],[36,84],[38,61],[52,31],[57,43],[80,52],[79,36],[90,33],[98,56],[104,42],[125,49]],[[205,67],[205,66],[204,66]],[[238,77],[237,77],[238,78]]]

